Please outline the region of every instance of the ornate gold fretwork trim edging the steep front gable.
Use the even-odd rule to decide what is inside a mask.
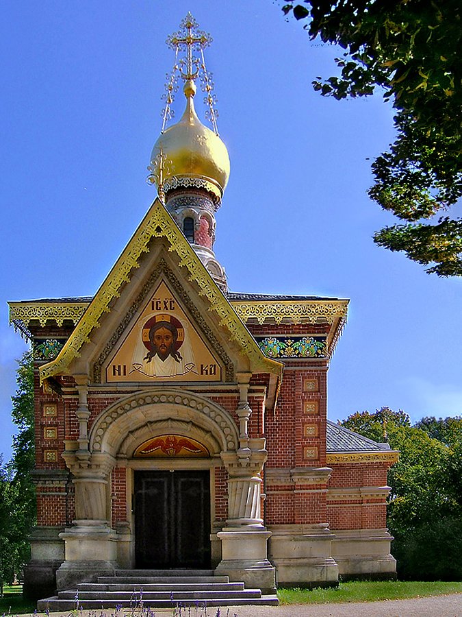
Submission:
[[[66,373],[73,359],[81,354],[81,348],[90,341],[92,330],[99,328],[105,313],[111,311],[110,303],[114,297],[118,298],[121,287],[130,282],[133,269],[140,267],[140,258],[142,254],[149,252],[148,245],[153,238],[166,239],[169,245],[168,250],[177,254],[179,265],[188,270],[188,279],[196,283],[200,289],[200,295],[207,298],[209,311],[217,313],[220,317],[220,326],[227,329],[230,339],[238,343],[242,353],[251,359],[253,369],[281,376],[283,365],[267,358],[261,352],[251,333],[248,332],[190,243],[179,230],[177,223],[159,199],[156,199],[92,298],[60,354],[52,362],[40,367],[40,380]]]

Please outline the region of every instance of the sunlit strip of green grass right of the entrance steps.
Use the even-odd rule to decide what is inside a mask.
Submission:
[[[280,589],[281,604],[328,604],[404,600],[421,596],[462,593],[462,583],[420,583],[414,581],[352,581],[328,589]]]

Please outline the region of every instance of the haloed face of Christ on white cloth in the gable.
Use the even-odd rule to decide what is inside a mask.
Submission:
[[[132,367],[131,372],[150,377],[175,377],[195,372],[194,354],[185,327],[177,317],[162,313],[144,323]]]

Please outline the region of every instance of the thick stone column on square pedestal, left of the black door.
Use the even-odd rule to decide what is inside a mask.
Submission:
[[[60,533],[65,561],[56,572],[57,590],[108,576],[117,566],[117,534],[108,520],[108,478],[115,460],[80,448],[63,457],[74,476],[76,518]]]

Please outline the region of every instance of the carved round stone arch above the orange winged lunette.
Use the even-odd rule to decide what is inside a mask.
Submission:
[[[143,432],[143,427],[149,423],[169,418],[177,422],[192,422],[198,431],[203,431],[203,435],[210,433],[207,443],[212,445],[216,441],[221,452],[238,448],[238,428],[220,405],[194,392],[155,388],[131,394],[107,407],[91,428],[90,451],[116,457],[127,435],[138,429]],[[126,447],[129,445],[127,442]]]

